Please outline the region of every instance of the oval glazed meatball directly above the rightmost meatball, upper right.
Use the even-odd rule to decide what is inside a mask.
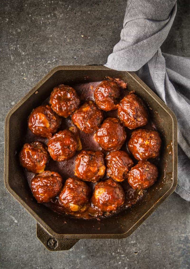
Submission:
[[[143,101],[133,93],[126,95],[118,104],[118,117],[129,129],[136,129],[148,122],[148,113]]]

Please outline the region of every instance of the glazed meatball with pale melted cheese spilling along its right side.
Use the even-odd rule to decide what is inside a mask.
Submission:
[[[48,152],[54,161],[65,161],[75,155],[77,141],[69,130],[59,131],[48,141]]]

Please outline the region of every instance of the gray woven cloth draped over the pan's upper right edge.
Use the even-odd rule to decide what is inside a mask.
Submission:
[[[190,201],[190,58],[165,54],[160,49],[176,11],[176,0],[128,0],[121,40],[105,66],[137,71],[177,116],[178,185],[175,192]]]

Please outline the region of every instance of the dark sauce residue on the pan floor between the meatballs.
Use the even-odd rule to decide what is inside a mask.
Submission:
[[[78,95],[80,97],[80,100],[81,100],[80,105],[82,105],[86,101],[94,101],[93,93],[94,93],[94,90],[96,89],[96,87],[98,86],[98,84],[100,84],[100,82],[91,82],[91,83],[71,85],[76,90],[76,92],[78,93]],[[128,93],[129,92],[126,89],[121,89],[121,97],[120,98],[122,99]],[[47,98],[47,100],[45,100],[45,102],[43,104],[49,104],[49,98]],[[117,109],[112,110],[112,111],[108,111],[108,112],[104,111],[103,113],[104,113],[104,119],[107,117],[118,118]],[[71,126],[74,126],[72,121],[71,121],[71,116],[69,116],[68,118],[62,118],[62,123],[61,123],[58,131],[64,130],[64,129],[69,129],[69,127],[71,127]],[[147,125],[143,126],[143,129],[156,130],[156,127],[155,127],[154,123],[151,120],[149,120]],[[94,133],[86,134],[84,132],[81,132],[80,130],[78,130],[78,131],[79,131],[80,140],[82,142],[82,149],[83,150],[92,150],[92,151],[101,150],[104,153],[104,155],[108,154],[108,152],[103,151],[101,149],[101,147],[99,146],[99,144],[94,141],[94,139],[93,139]],[[127,139],[126,139],[124,145],[122,146],[121,150],[126,151],[130,155],[130,157],[133,159],[133,162],[135,165],[138,161],[133,158],[133,156],[131,155],[131,153],[129,152],[128,147],[127,147],[127,143],[129,141],[129,138],[131,136],[132,131],[129,130],[128,128],[125,128],[125,132],[127,134]],[[29,129],[27,129],[27,133],[26,133],[26,136],[24,137],[23,143],[31,143],[33,141],[41,141],[44,144],[47,144],[48,139],[37,137]],[[78,152],[76,153],[76,155],[77,154],[78,154]],[[47,165],[46,165],[45,170],[58,172],[62,176],[63,184],[64,184],[64,182],[67,178],[74,176],[76,155],[73,156],[69,160],[61,161],[61,162],[54,161],[52,158],[50,158]],[[159,158],[154,160],[155,164],[157,164],[158,162],[159,162]],[[29,183],[29,186],[31,186],[30,182],[31,182],[31,179],[34,177],[34,173],[27,172],[26,170],[24,170],[24,172],[25,172],[27,181]],[[105,174],[103,179],[105,179],[105,178],[108,178],[108,176],[106,174]],[[103,179],[101,179],[101,180],[103,180]],[[91,187],[92,192],[93,192],[94,186],[96,185],[96,183],[92,183],[92,182],[86,182],[86,183],[87,183],[87,185],[89,185]],[[118,210],[116,210],[112,213],[102,213],[98,210],[98,208],[94,207],[92,203],[89,203],[87,210],[84,212],[78,211],[78,212],[72,212],[72,213],[69,212],[68,213],[61,206],[61,203],[59,201],[58,196],[55,197],[54,199],[52,199],[51,202],[44,203],[44,205],[51,208],[51,210],[53,210],[59,214],[70,214],[70,215],[75,216],[77,218],[84,218],[84,219],[99,218],[99,219],[101,219],[101,218],[109,217],[109,216],[118,214],[121,211],[126,210],[126,208],[132,206],[137,201],[141,200],[142,197],[146,194],[146,190],[142,191],[142,190],[132,189],[126,180],[121,182],[120,184],[124,189],[126,199],[125,199],[124,204]]]

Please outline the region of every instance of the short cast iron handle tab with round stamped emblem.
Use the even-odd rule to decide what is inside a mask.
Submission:
[[[71,249],[79,241],[79,239],[54,238],[38,222],[36,223],[36,235],[50,251]]]

